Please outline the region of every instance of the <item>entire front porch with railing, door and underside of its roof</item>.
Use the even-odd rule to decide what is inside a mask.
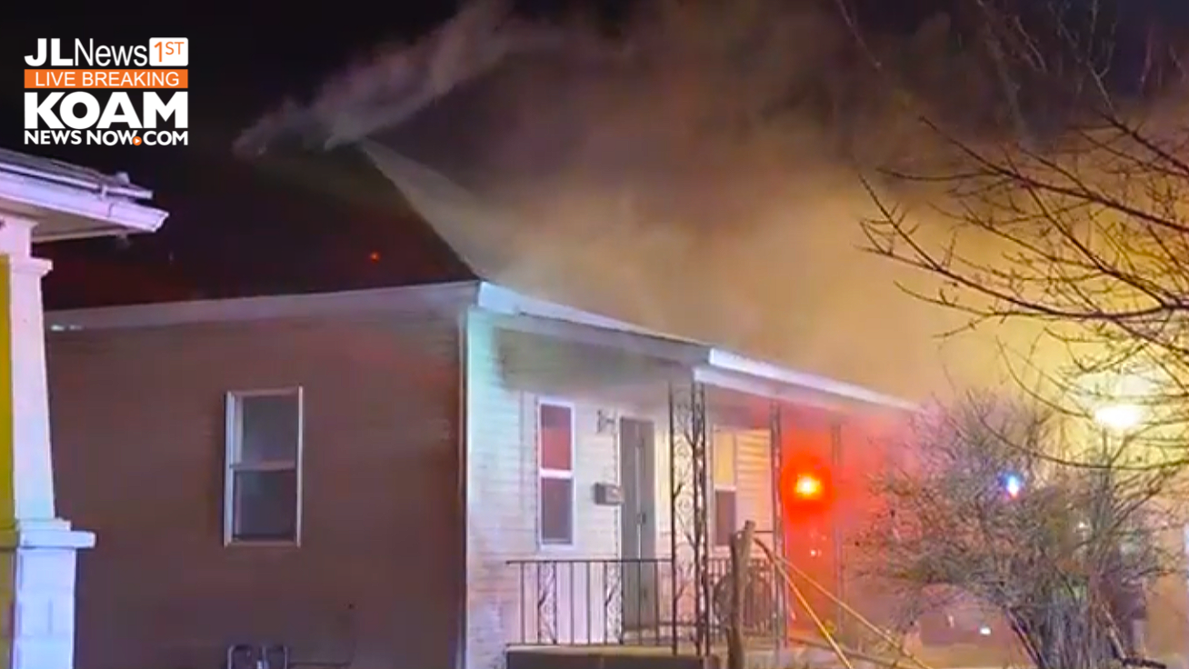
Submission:
[[[845,430],[866,412],[911,409],[844,384],[792,383],[792,373],[659,335],[523,311],[487,323],[501,383],[520,397],[521,475],[534,472],[520,493],[533,545],[502,564],[509,665],[531,667],[545,651],[722,654],[729,537],[751,522],[774,554],[788,554],[779,493],[788,453],[841,473]],[[562,520],[551,511],[561,506],[556,488],[571,500]],[[795,551],[841,592],[841,528],[817,529],[825,531],[797,529]],[[754,556],[743,602],[751,665],[806,652],[792,639],[810,621],[787,600],[773,564]]]

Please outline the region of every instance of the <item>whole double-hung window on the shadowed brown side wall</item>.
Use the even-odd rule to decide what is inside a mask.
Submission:
[[[301,389],[227,395],[224,543],[301,537]]]

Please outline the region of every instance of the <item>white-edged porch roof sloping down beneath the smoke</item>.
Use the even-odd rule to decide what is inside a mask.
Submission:
[[[800,404],[842,400],[901,411],[919,409],[912,402],[863,386],[756,360],[486,282],[479,286],[476,304],[487,311],[516,316],[531,332],[630,349],[681,364],[690,368],[693,380],[713,387]]]

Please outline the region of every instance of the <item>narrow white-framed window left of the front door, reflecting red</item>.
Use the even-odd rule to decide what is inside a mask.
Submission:
[[[537,408],[540,498],[537,520],[541,543],[574,543],[574,410],[565,404]]]

